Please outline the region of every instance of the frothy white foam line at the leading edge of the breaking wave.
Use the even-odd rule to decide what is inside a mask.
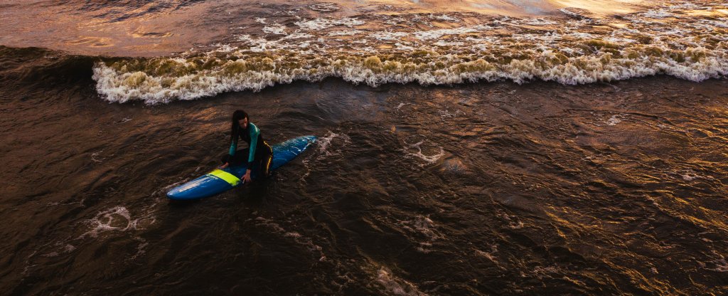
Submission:
[[[727,48],[728,51],[728,48]],[[694,53],[697,52],[697,53]],[[326,77],[339,77],[355,84],[373,87],[385,83],[418,82],[421,85],[452,85],[465,82],[493,82],[510,79],[516,83],[534,79],[555,81],[564,85],[646,77],[668,74],[700,82],[728,74],[726,54],[716,55],[703,47],[689,48],[682,55],[700,55],[700,61],[675,61],[669,57],[641,56],[610,58],[609,55],[579,56],[561,61],[555,52],[541,52],[533,59],[510,63],[475,61],[381,61],[379,57],[353,61],[317,61],[317,65],[285,69],[282,63],[269,61],[270,69],[250,66],[246,61],[228,61],[217,69],[183,75],[147,74],[144,71],[114,69],[97,63],[93,69],[98,93],[108,101],[124,103],[141,100],[146,104],[193,100],[229,91],[259,91],[295,80],[317,82]],[[439,63],[438,63],[439,62]],[[447,63],[450,63],[449,65]],[[236,65],[237,64],[237,65]],[[241,69],[234,72],[236,68]],[[248,67],[248,69],[246,69]],[[261,69],[262,68],[262,69]],[[232,72],[231,72],[231,69]]]

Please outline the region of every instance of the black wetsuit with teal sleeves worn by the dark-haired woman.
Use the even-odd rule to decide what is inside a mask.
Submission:
[[[248,148],[237,150],[237,141],[242,139],[248,142]],[[261,136],[261,130],[252,122],[247,129],[238,129],[237,135],[232,136],[230,150],[223,156],[223,163],[240,165],[248,163],[252,176],[269,176],[273,163],[273,149]],[[256,174],[257,172],[257,174]]]

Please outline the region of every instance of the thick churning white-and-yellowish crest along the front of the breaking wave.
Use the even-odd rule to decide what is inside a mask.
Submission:
[[[225,58],[100,62],[94,67],[93,79],[98,93],[108,101],[141,100],[146,104],[193,100],[229,91],[259,91],[295,80],[316,82],[326,77],[373,87],[384,83],[450,85],[500,79],[519,84],[542,79],[575,85],[654,74],[702,81],[728,74],[726,52],[724,42],[712,50],[660,50],[640,45],[576,56],[554,50],[526,50],[515,57],[422,51],[410,55],[292,58],[286,55],[288,52],[269,52]]]

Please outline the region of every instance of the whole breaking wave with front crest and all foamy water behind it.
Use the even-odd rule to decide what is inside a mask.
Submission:
[[[454,12],[258,23],[258,34],[171,58],[96,63],[98,93],[160,104],[326,77],[376,87],[503,79],[577,85],[656,74],[700,82],[728,74],[728,10],[715,5],[604,18],[561,9],[545,18]]]

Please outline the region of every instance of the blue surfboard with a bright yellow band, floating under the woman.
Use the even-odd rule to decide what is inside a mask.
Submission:
[[[316,136],[301,136],[288,141],[275,144],[273,148],[273,163],[271,171],[293,160],[304,152],[306,148],[316,141]],[[240,178],[245,175],[247,164],[229,166],[224,169],[215,169],[190,182],[182,184],[167,192],[167,198],[173,200],[193,200],[207,198],[242,184]],[[256,176],[251,176],[256,179]]]

